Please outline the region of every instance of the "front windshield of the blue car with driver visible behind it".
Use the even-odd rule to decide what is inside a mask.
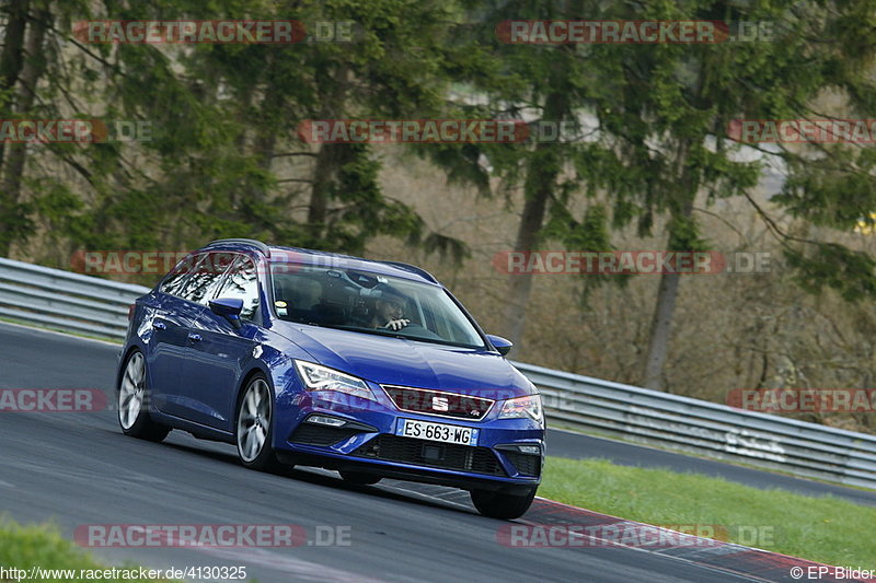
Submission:
[[[474,325],[438,285],[368,271],[273,263],[280,319],[442,345],[484,348]]]

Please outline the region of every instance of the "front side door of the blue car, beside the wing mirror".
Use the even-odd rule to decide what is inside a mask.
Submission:
[[[240,324],[209,308],[214,298],[243,301]],[[216,429],[232,430],[237,388],[257,346],[260,288],[256,265],[240,255],[212,298],[205,298],[192,320],[192,357],[186,370],[186,392],[195,410],[192,419]]]

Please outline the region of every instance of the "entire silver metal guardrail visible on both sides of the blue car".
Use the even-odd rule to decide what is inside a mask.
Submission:
[[[0,258],[0,316],[122,339],[148,288]],[[876,436],[514,362],[554,423],[796,476],[876,488]],[[550,447],[550,444],[549,444]]]

